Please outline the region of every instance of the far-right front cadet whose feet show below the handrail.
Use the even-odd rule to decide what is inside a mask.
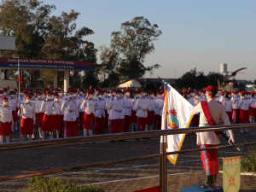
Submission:
[[[240,109],[240,123],[241,124],[247,124],[250,123],[250,117],[249,117],[249,107],[251,105],[251,101],[248,99],[248,93],[247,91],[241,91],[241,100],[239,102],[239,108]],[[241,129],[240,133],[249,133],[247,129]]]

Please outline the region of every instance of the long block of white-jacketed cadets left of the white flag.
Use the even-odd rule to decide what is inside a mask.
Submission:
[[[9,143],[19,120],[21,142],[25,136],[32,141],[36,127],[43,140],[45,133],[53,139],[54,131],[63,137],[63,129],[65,137],[77,137],[78,128],[84,129],[84,136],[103,134],[104,128],[108,133],[129,132],[130,124],[131,131],[160,130],[164,91],[68,88],[63,94],[46,88],[21,90],[19,97],[18,90],[5,88],[0,96],[0,142],[5,136]]]

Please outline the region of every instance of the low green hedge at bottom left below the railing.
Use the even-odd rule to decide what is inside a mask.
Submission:
[[[61,181],[58,178],[43,176],[30,177],[27,192],[104,192],[102,188],[95,185],[75,185],[69,181]]]

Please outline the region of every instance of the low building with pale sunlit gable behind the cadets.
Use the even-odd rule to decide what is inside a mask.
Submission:
[[[168,84],[173,84],[177,79],[164,79]],[[142,79],[128,79],[119,84],[115,85],[116,89],[126,90],[129,87],[129,90],[160,90],[160,87],[163,89],[162,79],[153,79],[153,78],[142,78]]]

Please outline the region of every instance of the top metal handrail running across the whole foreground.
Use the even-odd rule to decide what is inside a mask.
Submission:
[[[60,146],[60,145],[77,144],[77,143],[96,143],[96,142],[132,139],[132,138],[139,138],[139,137],[157,137],[157,136],[177,135],[177,134],[196,133],[196,132],[240,130],[241,127],[243,129],[256,128],[256,124],[216,125],[216,126],[204,126],[204,127],[183,128],[183,129],[173,129],[173,130],[115,133],[115,134],[106,134],[106,135],[98,135],[98,136],[90,136],[90,137],[69,137],[69,138],[31,141],[31,142],[23,142],[23,143],[20,143],[20,142],[4,143],[4,144],[0,144],[0,151],[21,149],[21,148],[42,148],[42,147]]]

